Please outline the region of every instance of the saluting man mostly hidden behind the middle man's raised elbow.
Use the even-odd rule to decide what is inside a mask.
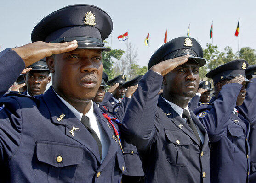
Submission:
[[[123,120],[125,109],[131,102],[131,97],[136,91],[139,81],[143,75],[138,75],[130,81],[125,82],[122,87],[126,88],[125,97],[121,103],[117,103],[114,110],[114,117],[119,121]],[[144,172],[142,168],[142,161],[138,154],[137,148],[127,143],[121,134],[122,144],[124,147],[124,159],[127,172],[124,173],[122,183],[144,183]]]

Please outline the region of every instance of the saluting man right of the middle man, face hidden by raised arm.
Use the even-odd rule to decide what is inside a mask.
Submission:
[[[206,74],[212,78],[215,96],[194,113],[207,129],[211,142],[211,181],[246,183],[250,170],[250,124],[238,113],[246,93],[245,60],[234,60]]]

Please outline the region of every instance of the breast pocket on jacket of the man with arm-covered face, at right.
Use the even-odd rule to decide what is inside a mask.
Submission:
[[[244,135],[245,134],[242,127],[228,126],[227,137],[232,142],[232,152],[238,152],[238,140],[241,140],[241,137]]]

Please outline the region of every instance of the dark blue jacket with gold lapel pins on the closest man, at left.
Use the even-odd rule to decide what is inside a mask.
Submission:
[[[5,74],[0,78],[2,95],[24,62],[14,51],[5,50],[0,65]],[[52,87],[35,97],[7,94],[0,106],[1,183],[120,183],[126,172],[122,152],[95,103],[94,113],[110,142],[102,164],[96,141]],[[79,128],[74,135],[73,127]]]

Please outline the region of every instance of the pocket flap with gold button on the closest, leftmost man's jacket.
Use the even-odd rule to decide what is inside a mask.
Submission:
[[[79,145],[37,141],[36,155],[38,161],[57,168],[84,163],[83,148]]]

